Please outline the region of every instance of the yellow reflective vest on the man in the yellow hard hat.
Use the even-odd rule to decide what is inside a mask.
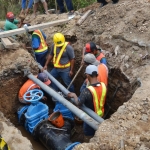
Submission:
[[[53,64],[55,68],[67,68],[70,66],[70,62],[68,62],[67,64],[60,64],[60,59],[61,56],[63,54],[63,52],[66,49],[66,46],[68,45],[68,42],[65,42],[65,44],[63,45],[62,49],[60,50],[58,56],[56,56],[56,46],[54,45],[54,57],[53,57]]]

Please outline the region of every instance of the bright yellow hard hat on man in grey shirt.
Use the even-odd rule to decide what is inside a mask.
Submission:
[[[53,42],[57,47],[63,46],[65,44],[65,37],[62,33],[56,33],[53,36]]]

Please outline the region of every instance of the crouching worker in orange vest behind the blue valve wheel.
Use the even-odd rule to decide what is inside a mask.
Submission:
[[[46,85],[50,85],[51,81],[48,79],[47,74],[45,74],[44,72],[39,73],[37,78],[42,81],[44,84]],[[40,89],[40,86],[37,85],[36,83],[34,83],[32,80],[28,79],[23,86],[21,87],[19,94],[18,94],[18,99],[21,103],[25,103],[27,104],[27,102],[23,99],[23,95],[29,91],[29,90],[33,90],[33,89]],[[43,99],[45,99],[45,97],[43,97]]]

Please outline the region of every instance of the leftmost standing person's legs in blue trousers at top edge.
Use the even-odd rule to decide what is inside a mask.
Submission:
[[[26,4],[27,4],[27,0],[22,0],[22,10],[21,10],[21,13],[20,15],[27,15],[29,13],[29,10],[32,8],[32,5],[33,5],[33,0],[29,0],[28,1],[28,6],[26,8]]]

